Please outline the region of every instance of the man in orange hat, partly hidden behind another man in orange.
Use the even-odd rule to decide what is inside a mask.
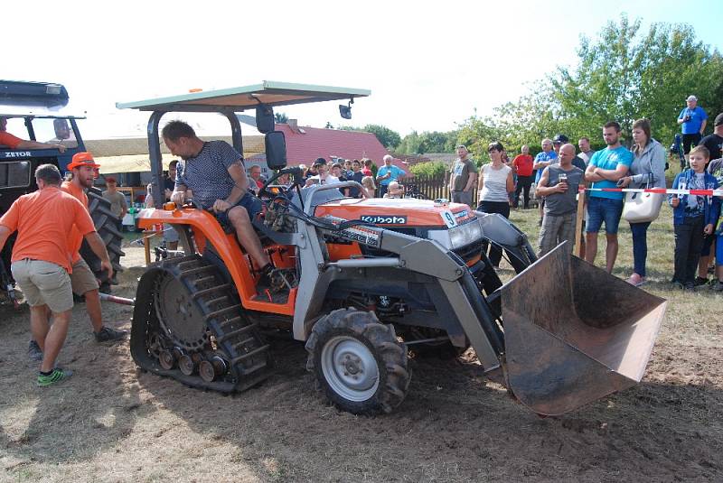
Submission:
[[[72,172],[72,179],[64,181],[61,190],[72,195],[83,204],[85,209],[88,209],[88,195],[85,190],[93,186],[95,170],[98,168],[100,165],[95,163],[92,154],[75,153],[72,162],[68,164],[68,169]],[[127,330],[115,330],[103,325],[98,280],[83,257],[80,256],[79,250],[82,243],[83,236],[80,235],[77,228],[72,228],[68,235],[68,247],[70,248],[68,255],[72,263],[72,273],[70,274],[72,291],[76,295],[85,296],[85,308],[88,311],[90,324],[93,326],[93,334],[98,342],[123,339],[128,333]],[[34,340],[30,341],[28,353],[31,358],[42,360],[42,352]]]

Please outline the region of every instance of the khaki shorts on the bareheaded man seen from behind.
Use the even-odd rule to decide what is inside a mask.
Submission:
[[[13,262],[10,271],[31,307],[47,305],[54,313],[73,308],[70,276],[60,265],[25,258]]]

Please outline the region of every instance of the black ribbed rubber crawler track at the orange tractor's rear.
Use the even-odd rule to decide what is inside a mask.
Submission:
[[[217,350],[231,366],[225,379],[230,384],[207,383],[201,376],[184,376],[178,369],[160,372],[168,373],[165,375],[182,380],[184,384],[221,392],[243,391],[271,375],[273,364],[269,346],[258,333],[256,324],[244,315],[233,287],[221,282],[218,268],[198,255],[167,259],[157,266],[165,276],[172,275],[183,283],[188,290],[187,300],[196,304],[204,316],[199,323],[206,324],[216,339]],[[133,323],[135,326],[135,317]],[[138,320],[138,323],[143,321]],[[154,367],[144,368],[159,372]]]

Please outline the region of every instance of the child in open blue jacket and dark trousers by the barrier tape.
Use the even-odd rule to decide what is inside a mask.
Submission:
[[[709,151],[696,146],[690,151],[690,169],[681,172],[672,183],[673,190],[715,190],[716,178],[705,171]],[[670,195],[675,230],[675,272],[672,283],[695,290],[695,275],[703,237],[713,234],[720,214],[720,200],[714,196]]]

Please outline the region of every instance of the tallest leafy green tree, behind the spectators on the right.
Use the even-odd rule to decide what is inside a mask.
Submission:
[[[645,34],[640,25],[623,15],[595,42],[582,37],[577,66],[549,76],[568,133],[599,139],[606,121],[628,130],[647,117],[653,135],[668,140],[679,129],[675,121],[688,95],[712,101],[723,78],[718,51],[698,41],[690,25],[653,23]]]

